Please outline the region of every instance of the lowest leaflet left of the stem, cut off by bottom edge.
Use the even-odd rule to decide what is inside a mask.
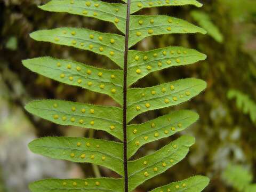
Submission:
[[[123,179],[113,178],[45,179],[29,185],[31,192],[123,192],[123,188]]]

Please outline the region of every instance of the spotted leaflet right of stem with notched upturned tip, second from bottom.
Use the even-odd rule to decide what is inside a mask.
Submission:
[[[184,135],[153,154],[129,162],[129,191],[180,162],[194,143],[194,137]]]

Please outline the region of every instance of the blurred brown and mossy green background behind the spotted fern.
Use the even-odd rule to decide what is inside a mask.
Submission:
[[[57,161],[29,152],[37,137],[110,138],[102,131],[60,126],[28,114],[23,106],[33,99],[55,98],[97,105],[116,105],[108,96],[64,85],[32,73],[22,59],[50,55],[90,65],[115,68],[109,59],[72,47],[36,42],[29,33],[61,26],[119,33],[114,25],[96,19],[39,10],[44,0],[0,0],[0,191],[27,192],[28,183],[44,178],[87,178],[116,175],[91,164]],[[166,14],[209,29],[207,35],[149,37],[134,49],[185,46],[207,55],[194,65],[152,73],[134,86],[146,87],[179,78],[204,79],[208,87],[182,105],[154,110],[135,118],[142,123],[172,110],[192,109],[200,120],[180,134],[196,137],[188,156],[167,172],[135,191],[143,192],[195,174],[211,178],[204,191],[256,191],[256,1],[205,0],[193,6],[144,9],[140,14]],[[152,142],[136,154],[141,157],[179,135]],[[254,177],[253,177],[254,176]]]

